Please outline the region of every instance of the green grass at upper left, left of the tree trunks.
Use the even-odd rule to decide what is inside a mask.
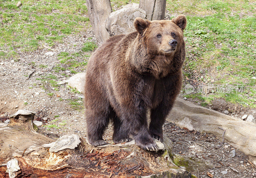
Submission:
[[[89,27],[85,0],[24,0],[18,8],[17,2],[0,0],[0,47],[9,58],[18,58],[18,49],[34,51],[44,43],[53,46]]]

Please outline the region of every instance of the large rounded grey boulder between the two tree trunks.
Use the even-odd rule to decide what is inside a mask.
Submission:
[[[136,17],[146,19],[146,12],[134,7],[114,11],[109,14],[105,28],[110,36],[131,33],[135,31],[133,21]]]

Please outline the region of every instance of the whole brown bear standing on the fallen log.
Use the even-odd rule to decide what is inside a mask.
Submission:
[[[84,105],[88,141],[102,139],[110,120],[114,143],[131,141],[157,151],[165,117],[182,86],[184,15],[172,20],[134,20],[135,32],[110,37],[88,61]],[[150,110],[148,127],[147,113]]]

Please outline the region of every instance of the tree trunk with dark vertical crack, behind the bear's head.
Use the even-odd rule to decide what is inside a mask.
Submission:
[[[140,0],[139,8],[147,13],[148,20],[162,20],[165,14],[166,0]]]

